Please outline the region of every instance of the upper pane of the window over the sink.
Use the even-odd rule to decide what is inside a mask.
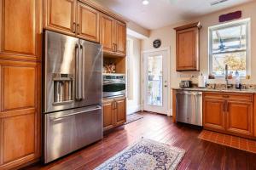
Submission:
[[[212,54],[245,50],[247,25],[230,26],[212,31]]]

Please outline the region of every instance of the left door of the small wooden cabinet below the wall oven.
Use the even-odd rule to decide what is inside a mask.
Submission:
[[[103,105],[103,129],[108,130],[113,127],[113,105],[112,102]]]

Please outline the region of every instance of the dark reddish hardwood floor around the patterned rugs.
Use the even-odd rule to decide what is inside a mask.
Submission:
[[[25,169],[93,169],[142,137],[185,149],[177,169],[256,169],[256,154],[198,139],[201,130],[172,123],[172,117],[146,112],[142,115],[143,119],[113,130],[83,150],[46,166],[38,163]]]

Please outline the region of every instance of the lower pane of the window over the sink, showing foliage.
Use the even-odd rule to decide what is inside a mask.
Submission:
[[[228,65],[229,74],[235,77],[238,71],[240,77],[246,77],[246,54],[246,52],[213,54],[212,73],[217,77],[224,77],[225,65]]]

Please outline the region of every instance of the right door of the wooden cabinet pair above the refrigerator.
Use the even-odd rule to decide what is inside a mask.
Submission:
[[[78,2],[78,37],[99,42],[100,12]]]

